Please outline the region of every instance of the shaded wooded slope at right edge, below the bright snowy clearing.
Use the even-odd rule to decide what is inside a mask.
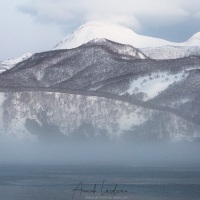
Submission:
[[[149,100],[156,106],[169,107],[200,122],[200,67],[188,71],[188,75]]]

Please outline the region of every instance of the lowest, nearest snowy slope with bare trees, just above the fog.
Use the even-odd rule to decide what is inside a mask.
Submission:
[[[0,96],[4,96],[1,130],[15,137],[128,142],[193,141],[200,137],[196,134],[200,126],[182,117],[120,100],[45,91]]]

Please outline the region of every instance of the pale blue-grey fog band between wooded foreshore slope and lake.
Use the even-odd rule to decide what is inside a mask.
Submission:
[[[0,163],[200,166],[199,143],[47,141],[1,137]]]

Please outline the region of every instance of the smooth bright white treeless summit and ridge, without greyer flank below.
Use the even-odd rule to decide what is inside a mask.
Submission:
[[[101,22],[88,22],[80,26],[54,49],[71,49],[88,43],[94,39],[105,38],[120,44],[132,45],[136,48],[160,46],[200,46],[200,33],[192,36],[188,41],[175,43],[167,40],[143,36],[121,25],[105,24]]]

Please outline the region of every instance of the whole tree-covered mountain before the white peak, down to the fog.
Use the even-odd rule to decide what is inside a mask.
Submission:
[[[0,74],[1,129],[17,136],[198,140],[199,70],[198,56],[153,60],[105,39],[37,53]]]

